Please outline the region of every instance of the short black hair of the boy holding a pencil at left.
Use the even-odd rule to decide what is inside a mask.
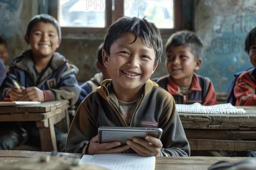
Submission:
[[[55,26],[55,28],[58,31],[58,37],[61,38],[61,27],[60,27],[58,21],[54,17],[52,17],[51,15],[48,15],[48,14],[38,14],[31,18],[31,20],[29,21],[27,31],[26,31],[26,34],[28,36],[29,36],[29,33],[31,32],[32,28],[35,26],[35,24],[37,24],[39,22],[51,23],[53,26]]]

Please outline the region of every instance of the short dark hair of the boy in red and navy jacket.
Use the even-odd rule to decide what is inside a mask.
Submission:
[[[166,52],[170,46],[184,45],[191,48],[195,60],[199,59],[202,55],[203,44],[200,39],[192,31],[177,31],[172,34],[166,42]]]

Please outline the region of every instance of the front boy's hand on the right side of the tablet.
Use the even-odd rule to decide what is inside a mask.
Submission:
[[[127,140],[126,144],[140,156],[158,156],[163,147],[160,139],[153,136],[145,136],[145,139],[134,137],[132,141]]]

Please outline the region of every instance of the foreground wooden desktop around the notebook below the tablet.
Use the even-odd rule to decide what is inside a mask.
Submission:
[[[50,155],[50,152],[20,151],[20,150],[0,150],[0,169],[6,162],[15,162],[29,159],[31,157],[41,157]],[[81,159],[80,153],[61,153],[67,160]],[[207,170],[212,164],[218,161],[236,162],[247,157],[156,157],[156,170]],[[118,163],[118,162],[117,162]]]

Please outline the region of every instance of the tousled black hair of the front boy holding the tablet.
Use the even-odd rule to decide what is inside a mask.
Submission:
[[[111,45],[125,33],[134,34],[134,42],[140,37],[147,47],[154,48],[156,54],[154,65],[157,62],[161,62],[163,42],[160,31],[154,23],[148,22],[145,17],[142,19],[138,17],[121,17],[114,22],[104,36],[103,49],[106,51],[106,54],[110,55]]]

